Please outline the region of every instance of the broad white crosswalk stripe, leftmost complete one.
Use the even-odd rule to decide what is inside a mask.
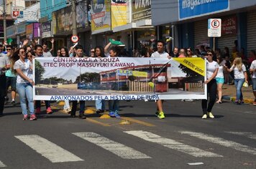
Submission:
[[[39,135],[16,135],[17,139],[28,145],[30,148],[40,153],[52,163],[62,163],[71,161],[82,161],[78,156],[60,148]]]

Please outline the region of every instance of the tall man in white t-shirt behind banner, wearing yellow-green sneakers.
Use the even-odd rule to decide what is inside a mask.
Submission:
[[[154,58],[171,58],[170,55],[165,52],[165,43],[161,40],[157,41],[157,51],[151,54]],[[163,100],[157,100],[157,112],[155,113],[158,118],[164,119],[165,114],[163,112]]]

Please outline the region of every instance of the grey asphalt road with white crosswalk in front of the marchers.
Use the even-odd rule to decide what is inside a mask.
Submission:
[[[121,119],[70,118],[52,105],[54,113],[42,111],[37,121],[6,105],[0,168],[256,168],[252,105],[224,102],[206,120],[200,100],[165,102],[164,120],[155,117],[155,102],[121,102]],[[94,102],[86,105],[93,110]]]

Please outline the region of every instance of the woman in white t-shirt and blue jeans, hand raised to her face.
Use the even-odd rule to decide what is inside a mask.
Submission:
[[[237,88],[237,98],[234,103],[237,105],[240,105],[244,103],[243,97],[242,97],[242,84],[244,82],[247,82],[247,72],[244,64],[242,64],[242,58],[236,57],[234,59],[234,63],[230,69],[227,69],[227,71],[232,72],[234,70],[234,85]]]

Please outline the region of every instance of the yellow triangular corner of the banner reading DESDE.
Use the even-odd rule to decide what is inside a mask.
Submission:
[[[191,69],[194,72],[201,74],[202,76],[205,76],[206,74],[205,61],[204,59],[201,59],[201,57],[175,57],[173,58],[173,60],[179,62],[185,67],[188,67],[188,69]]]

